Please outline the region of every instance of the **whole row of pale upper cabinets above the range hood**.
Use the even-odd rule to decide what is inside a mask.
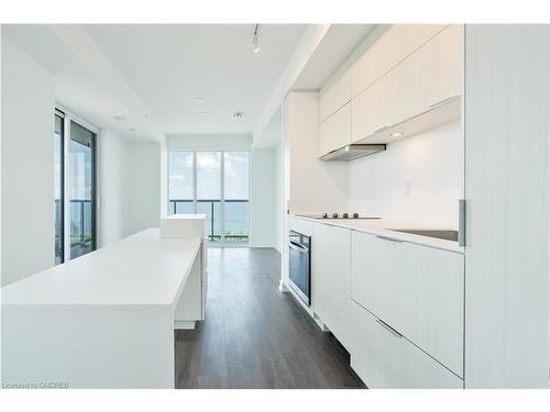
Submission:
[[[319,98],[319,156],[459,120],[462,25],[397,24]]]

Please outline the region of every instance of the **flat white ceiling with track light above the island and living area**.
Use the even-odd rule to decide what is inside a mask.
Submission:
[[[253,24],[11,25],[2,33],[54,74],[59,102],[143,140],[252,133],[305,29],[261,24],[256,54]]]

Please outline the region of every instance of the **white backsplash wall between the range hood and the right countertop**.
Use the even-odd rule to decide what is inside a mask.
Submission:
[[[461,131],[460,122],[449,123],[350,162],[349,211],[457,229],[464,176]]]

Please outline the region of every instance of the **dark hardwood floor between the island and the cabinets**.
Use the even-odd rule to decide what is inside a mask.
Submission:
[[[176,388],[364,388],[349,355],[289,293],[272,248],[208,252],[207,320],[176,331]]]

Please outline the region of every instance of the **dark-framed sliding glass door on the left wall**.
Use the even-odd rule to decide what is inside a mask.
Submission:
[[[56,110],[54,133],[55,264],[96,249],[97,130]]]

